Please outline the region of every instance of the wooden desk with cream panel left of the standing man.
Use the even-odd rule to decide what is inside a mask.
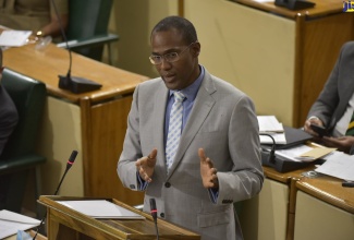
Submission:
[[[77,149],[78,156],[60,194],[115,197],[127,204],[141,204],[143,194],[124,189],[115,169],[132,93],[148,77],[73,52],[72,75],[98,82],[102,88],[84,94],[60,89],[58,74],[66,74],[69,53],[54,45],[41,51],[35,50],[34,45],[8,49],[3,52],[3,64],[46,83],[48,89],[38,140],[38,151],[48,159],[41,168],[42,194],[53,194],[71,152]]]

